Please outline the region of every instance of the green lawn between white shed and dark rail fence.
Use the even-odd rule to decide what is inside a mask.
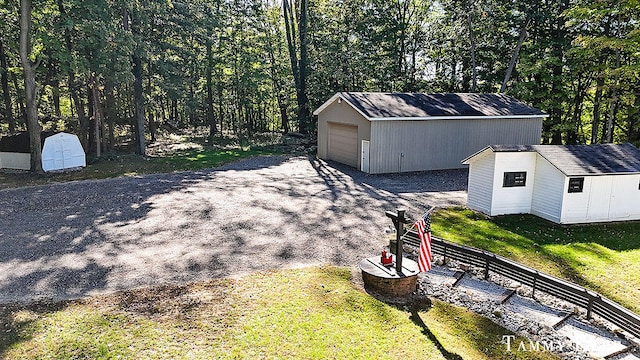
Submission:
[[[640,313],[640,222],[556,225],[533,215],[488,219],[439,209],[433,234],[600,292]]]

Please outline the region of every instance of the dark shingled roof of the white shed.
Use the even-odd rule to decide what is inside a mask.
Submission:
[[[484,150],[489,148],[494,152],[535,151],[566,176],[640,173],[640,150],[629,143],[594,145],[490,145]]]

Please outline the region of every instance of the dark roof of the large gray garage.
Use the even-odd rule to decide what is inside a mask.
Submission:
[[[343,92],[340,95],[370,119],[546,115],[504,94]]]

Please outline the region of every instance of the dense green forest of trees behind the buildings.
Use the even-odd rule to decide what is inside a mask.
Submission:
[[[0,135],[144,154],[160,127],[313,134],[337,91],[504,92],[550,114],[543,143],[638,145],[639,15],[640,0],[0,0]]]

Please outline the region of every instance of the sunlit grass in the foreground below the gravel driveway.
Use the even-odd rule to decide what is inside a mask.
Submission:
[[[0,357],[555,358],[508,352],[501,339],[511,332],[465,309],[390,306],[350,277],[345,268],[306,268],[0,306]]]

